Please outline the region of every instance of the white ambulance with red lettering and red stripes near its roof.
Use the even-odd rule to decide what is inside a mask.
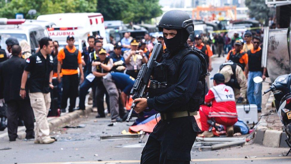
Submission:
[[[59,42],[60,48],[67,45],[66,37],[75,37],[75,46],[82,50],[88,45],[87,38],[90,35],[105,37],[104,19],[100,13],[58,13],[41,15],[37,20],[50,21],[55,26],[48,28],[52,40]],[[106,39],[103,40],[106,43]]]

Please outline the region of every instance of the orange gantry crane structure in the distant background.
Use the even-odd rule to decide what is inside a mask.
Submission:
[[[234,13],[233,13],[233,11]],[[197,6],[196,8],[193,8],[192,10],[192,19],[201,19],[200,17],[200,11],[219,11],[219,12],[225,12],[225,15],[227,17],[232,18],[233,20],[236,20],[236,6],[224,6],[224,7],[214,7],[214,6]],[[196,13],[196,15],[195,15]],[[213,14],[212,14],[213,17]]]

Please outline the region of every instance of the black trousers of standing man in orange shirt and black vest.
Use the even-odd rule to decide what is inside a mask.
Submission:
[[[68,98],[70,98],[69,112],[73,111],[76,106],[76,98],[78,96],[79,77],[78,74],[63,75],[63,93],[61,108],[67,107]]]

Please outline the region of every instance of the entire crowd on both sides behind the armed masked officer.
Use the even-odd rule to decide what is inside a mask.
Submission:
[[[156,43],[166,48],[162,36],[149,34],[137,40],[130,33],[125,33],[120,42],[111,37],[109,44],[112,46],[104,46],[102,37],[89,36],[89,46],[82,50],[78,50],[74,42],[74,36],[67,36],[67,45],[59,49],[58,41],[42,38],[39,50],[32,55],[27,43],[18,43],[15,38],[7,39],[8,54],[1,49],[4,58],[0,55],[0,106],[8,110],[6,113],[0,110],[0,130],[6,127],[7,118],[10,141],[16,140],[17,126],[23,120],[27,139],[35,138],[35,143],[54,142],[49,137],[49,109],[59,108],[62,113],[67,112],[66,108],[68,112],[85,110],[85,99],[90,88],[88,104],[92,103],[92,111],[98,113],[96,118],[106,117],[105,96],[112,122],[122,122],[134,78],[141,65],[148,62]],[[227,54],[225,63],[219,67],[219,74],[214,76],[214,87],[209,88],[209,76],[205,79],[208,93],[205,102],[215,102],[212,102],[212,107],[204,105],[200,108],[202,130],[205,131],[203,136],[212,136],[208,133],[210,125],[207,123],[212,117],[219,124],[231,127],[237,121],[236,104],[256,104],[258,111],[261,111],[262,85],[255,84],[253,78],[261,76],[265,79],[267,74],[266,68],[261,68],[261,38],[258,33],[245,32],[244,39],[238,33],[232,39],[227,33],[220,33],[215,34],[213,40],[201,34],[195,35],[194,40],[189,37],[187,43],[204,53],[209,72],[213,70],[211,56]],[[53,95],[52,90],[55,90]],[[218,100],[216,95],[226,98]],[[80,101],[76,107],[78,96]],[[56,101],[53,102],[52,98]],[[231,128],[228,129],[231,131]]]

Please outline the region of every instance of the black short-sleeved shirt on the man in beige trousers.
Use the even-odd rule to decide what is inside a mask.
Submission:
[[[47,55],[47,59],[39,51],[26,59],[28,63],[24,70],[30,72],[29,91],[30,93],[49,93],[49,74],[53,69],[53,57]]]

